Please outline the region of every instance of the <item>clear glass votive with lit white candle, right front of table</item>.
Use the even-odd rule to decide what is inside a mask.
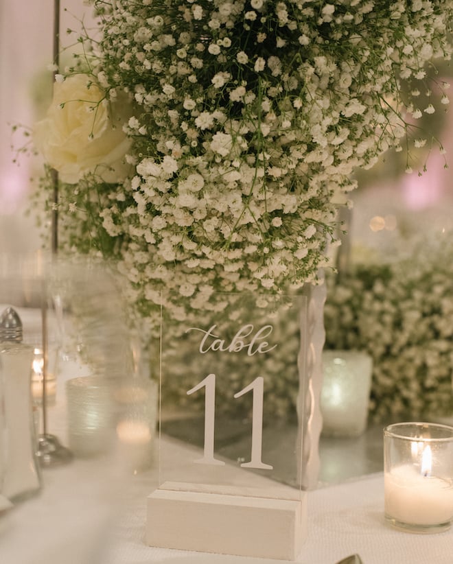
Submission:
[[[384,429],[384,511],[408,532],[442,532],[453,519],[453,427],[394,423]]]

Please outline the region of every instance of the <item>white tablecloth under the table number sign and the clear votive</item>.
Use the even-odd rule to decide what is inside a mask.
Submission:
[[[47,470],[41,495],[0,517],[1,564],[276,562],[146,546],[146,497],[156,486],[156,468],[115,480],[90,462]],[[119,491],[121,503],[113,503]],[[308,512],[299,563],[334,564],[355,552],[364,564],[453,562],[453,530],[419,535],[384,523],[381,473],[310,492]]]

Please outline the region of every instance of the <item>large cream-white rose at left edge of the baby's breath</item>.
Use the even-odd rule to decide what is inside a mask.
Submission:
[[[102,90],[87,84],[89,78],[83,74],[54,83],[47,115],[34,126],[34,143],[65,183],[76,184],[89,173],[117,183],[130,170],[124,159],[130,140],[122,126],[131,112],[124,112],[128,108],[124,100],[100,102]]]

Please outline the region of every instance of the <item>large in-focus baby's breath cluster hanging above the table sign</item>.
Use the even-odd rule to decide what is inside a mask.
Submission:
[[[115,127],[128,97],[131,172],[63,182],[60,243],[115,259],[143,318],[161,290],[183,318],[216,290],[316,281],[354,169],[413,143],[434,109],[417,88],[451,52],[452,0],[93,4],[100,34],[63,75],[84,71]]]

